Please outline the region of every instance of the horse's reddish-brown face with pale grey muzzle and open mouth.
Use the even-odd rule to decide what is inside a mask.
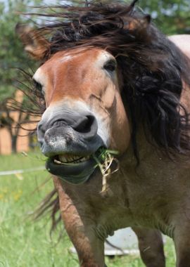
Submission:
[[[91,155],[101,147],[125,152],[129,122],[110,53],[93,47],[60,51],[33,79],[46,100],[37,133],[42,152],[51,159],[50,171],[61,175],[68,168],[71,176],[78,175],[96,164]]]

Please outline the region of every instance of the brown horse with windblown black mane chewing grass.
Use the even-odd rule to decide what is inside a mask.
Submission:
[[[51,23],[16,27],[41,63],[38,140],[82,267],[105,266],[106,237],[125,227],[146,266],[165,266],[160,232],[190,266],[190,36],[166,37],[136,2],[58,6],[39,14]]]

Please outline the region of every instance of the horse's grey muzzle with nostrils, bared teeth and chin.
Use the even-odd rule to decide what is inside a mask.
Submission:
[[[49,159],[46,169],[69,183],[87,181],[96,169],[92,157],[105,147],[97,133],[98,124],[91,113],[67,111],[39,122],[37,133],[41,150]]]

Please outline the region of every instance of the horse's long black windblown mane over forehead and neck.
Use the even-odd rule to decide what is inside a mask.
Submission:
[[[189,62],[148,15],[134,10],[135,2],[126,6],[90,1],[82,6],[56,6],[56,12],[39,14],[54,18],[39,28],[42,34],[48,32],[50,41],[44,60],[79,46],[106,49],[117,59],[122,74],[122,99],[131,119],[135,155],[138,157],[139,122],[159,148],[168,154],[186,154],[190,147],[189,113],[179,98],[182,81],[190,86]]]

